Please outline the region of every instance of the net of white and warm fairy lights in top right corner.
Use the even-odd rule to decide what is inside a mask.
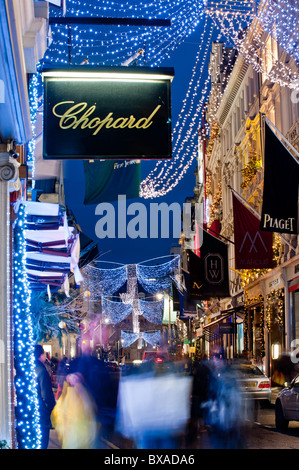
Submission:
[[[254,70],[271,82],[298,89],[297,67],[278,56],[280,46],[298,62],[298,6],[292,0],[261,0],[257,10],[254,2],[242,10],[240,3],[232,8],[230,2],[211,2],[207,13]]]

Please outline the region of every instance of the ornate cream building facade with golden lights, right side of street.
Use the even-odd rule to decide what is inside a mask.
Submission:
[[[288,63],[298,73],[295,61],[271,37],[265,34],[264,41],[271,57],[279,63]],[[210,137],[205,152],[205,192],[208,227],[214,224],[221,236],[232,242],[228,243],[231,296],[213,299],[202,323],[210,331],[209,346],[218,340],[226,357],[228,346],[234,354],[245,351],[272,376],[276,359],[291,352],[298,336],[298,236],[274,234],[273,269],[237,270],[231,188],[255,214],[261,214],[264,117],[298,151],[299,105],[294,91],[271,82],[267,73],[258,73],[241,55],[230,62],[231,70],[226,68],[229,77],[225,74],[224,79],[228,56],[232,57],[231,51],[222,44],[213,45],[212,87],[206,112]],[[265,63],[269,72],[274,62]],[[216,338],[217,318],[223,320],[230,309],[238,317],[237,329],[234,335],[218,334]],[[208,350],[212,352],[211,347]]]

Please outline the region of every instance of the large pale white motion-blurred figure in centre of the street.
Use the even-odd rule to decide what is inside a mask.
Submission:
[[[143,367],[144,366],[144,367]],[[122,375],[116,431],[138,449],[175,449],[190,417],[192,378],[148,361]]]

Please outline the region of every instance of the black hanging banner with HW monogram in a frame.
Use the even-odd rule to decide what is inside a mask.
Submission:
[[[202,300],[229,297],[227,245],[203,230],[200,257],[191,250],[187,250],[187,253],[190,296]]]

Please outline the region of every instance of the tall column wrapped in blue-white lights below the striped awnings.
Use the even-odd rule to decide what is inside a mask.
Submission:
[[[16,425],[19,447],[38,449],[41,445],[39,405],[35,375],[31,289],[26,262],[24,230],[27,228],[25,205],[20,204],[14,229],[14,352],[16,388]]]

